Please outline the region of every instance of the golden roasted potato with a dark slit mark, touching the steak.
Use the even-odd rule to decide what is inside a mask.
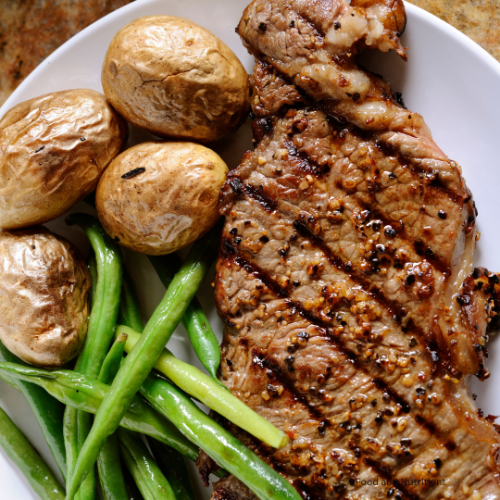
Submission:
[[[145,142],[115,158],[99,181],[96,206],[108,234],[148,255],[175,252],[219,218],[227,166],[192,142]]]

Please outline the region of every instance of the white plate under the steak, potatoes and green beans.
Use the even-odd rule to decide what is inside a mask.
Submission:
[[[248,0],[249,1],[249,0]],[[102,92],[100,72],[104,54],[113,35],[137,17],[152,14],[182,16],[208,28],[226,42],[251,72],[253,58],[243,48],[234,28],[247,0],[137,0],[94,23],[48,57],[7,100],[0,116],[15,104],[58,90],[91,88]],[[408,26],[403,45],[408,46],[408,63],[395,54],[369,54],[364,62],[383,74],[393,89],[403,93],[409,109],[421,113],[430,125],[436,142],[451,158],[458,161],[472,189],[479,209],[478,226],[482,233],[476,251],[476,263],[500,270],[500,64],[465,35],[427,12],[407,4]],[[26,50],[30,50],[26,47]],[[134,132],[131,144],[145,135]],[[230,168],[242,153],[251,148],[250,128],[245,125],[235,138],[221,146],[219,152]],[[74,211],[91,211],[80,204]],[[73,241],[83,252],[87,243],[83,234],[68,228],[64,218],[48,226]],[[160,301],[163,288],[145,258],[126,259],[138,286],[143,312],[149,316]],[[220,335],[222,325],[215,312],[207,279],[199,298],[211,324]],[[181,358],[198,364],[179,327],[169,347]],[[489,367],[492,373],[485,383],[473,383],[479,397],[477,403],[486,413],[500,414],[500,398],[494,388],[500,384],[500,346],[493,340]],[[16,424],[35,444],[55,470],[55,462],[44,442],[38,424],[23,399],[10,387],[0,384],[0,402]],[[196,475],[193,471],[193,478]],[[194,479],[200,485],[198,479]],[[17,468],[0,452],[0,497],[6,500],[38,498]],[[209,498],[199,487],[199,498]]]

